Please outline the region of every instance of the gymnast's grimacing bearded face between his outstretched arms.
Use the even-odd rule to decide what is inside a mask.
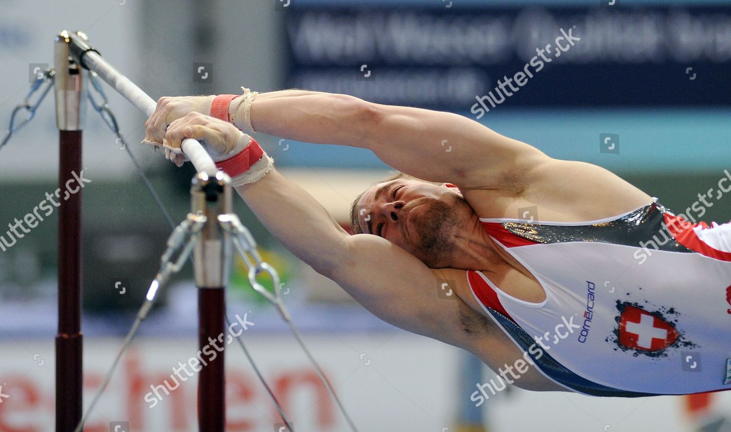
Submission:
[[[443,262],[472,212],[454,185],[409,178],[372,186],[357,208],[363,233],[387,239],[430,267]]]

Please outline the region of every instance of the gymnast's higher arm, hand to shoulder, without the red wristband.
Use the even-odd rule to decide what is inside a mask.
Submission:
[[[160,99],[148,120],[148,138],[162,142],[165,126],[200,109],[204,100]],[[461,115],[333,93],[261,93],[251,104],[251,124],[257,132],[285,139],[366,148],[406,174],[462,188],[499,189],[506,177],[525,174],[548,159],[534,147]]]

